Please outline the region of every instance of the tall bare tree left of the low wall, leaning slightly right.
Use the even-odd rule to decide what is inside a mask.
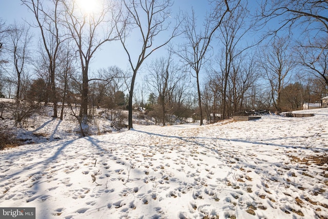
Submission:
[[[219,27],[219,39],[223,45],[220,67],[222,72],[222,118],[237,112],[239,97],[237,82],[240,79],[242,53],[256,44],[241,45],[244,36],[253,28],[252,23],[245,22],[249,10],[247,4],[239,1],[229,16],[225,17]],[[230,86],[230,89],[228,89]],[[230,92],[230,95],[229,93]],[[231,107],[231,103],[233,107]]]

